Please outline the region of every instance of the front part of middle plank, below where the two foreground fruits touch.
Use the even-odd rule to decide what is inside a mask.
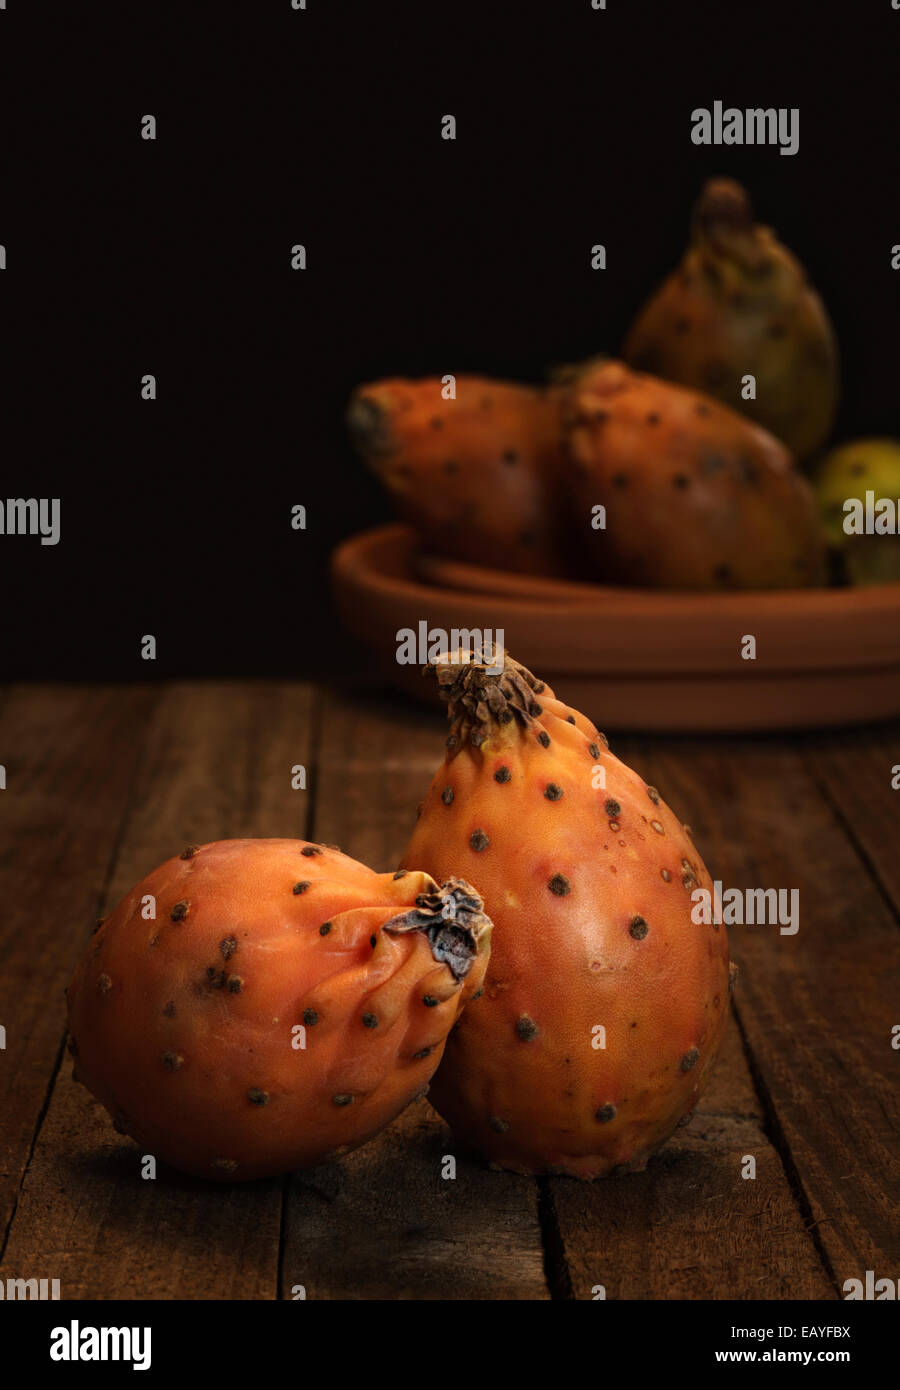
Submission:
[[[427,1101],[291,1180],[284,1297],[540,1300],[537,1183],[466,1158]]]

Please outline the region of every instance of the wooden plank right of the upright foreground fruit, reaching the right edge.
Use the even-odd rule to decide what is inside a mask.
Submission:
[[[615,745],[613,745],[615,746]],[[800,930],[732,927],[768,1131],[835,1291],[900,1265],[900,933],[791,744],[690,739],[633,760],[725,887],[800,895]],[[878,1276],[876,1276],[878,1277]]]

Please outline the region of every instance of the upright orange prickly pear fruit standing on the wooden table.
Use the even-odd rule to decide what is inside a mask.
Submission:
[[[494,937],[428,1098],[501,1168],[643,1168],[722,1041],[726,933],[691,920],[709,874],[584,714],[511,657],[460,662],[430,667],[451,735],[402,863],[477,874]]]

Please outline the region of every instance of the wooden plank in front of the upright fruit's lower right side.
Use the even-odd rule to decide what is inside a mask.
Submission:
[[[747,1155],[754,1179],[741,1177]],[[644,1173],[549,1182],[574,1298],[829,1298],[732,1019],[693,1123]]]

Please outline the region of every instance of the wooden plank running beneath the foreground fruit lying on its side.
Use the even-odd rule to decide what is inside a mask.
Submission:
[[[303,687],[178,684],[166,689],[143,749],[107,910],[189,842],[303,835],[312,705]],[[71,923],[71,912],[60,920]],[[72,945],[89,930],[77,924]],[[65,1066],[22,1187],[4,1277],[49,1273],[64,1298],[271,1298],[282,1180],[207,1184],[139,1151]],[[210,1238],[214,1232],[214,1238]]]

